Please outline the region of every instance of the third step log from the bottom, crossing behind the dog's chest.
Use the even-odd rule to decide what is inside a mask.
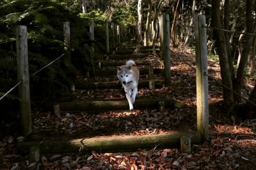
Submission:
[[[151,80],[155,82],[155,88],[161,88],[164,84],[162,80]],[[139,81],[138,88],[149,88],[150,81]],[[111,82],[76,82],[76,89],[118,89],[122,88],[120,81]]]

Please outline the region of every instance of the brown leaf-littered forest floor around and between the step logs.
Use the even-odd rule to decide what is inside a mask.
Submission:
[[[154,90],[139,89],[138,98],[174,97],[186,104],[182,109],[108,111],[99,114],[62,112],[61,118],[48,112],[33,112],[31,139],[74,139],[106,135],[161,134],[176,129],[196,130],[196,77],[194,52],[184,47],[172,49],[172,83]],[[209,59],[210,139],[193,144],[191,153],[178,148],[138,150],[131,153],[92,153],[41,155],[29,162],[15,148],[17,135],[0,138],[0,169],[256,169],[256,120],[232,121],[221,110],[222,90],[218,61]],[[163,79],[161,75],[155,75]],[[95,81],[78,77],[83,81]],[[148,79],[143,75],[140,79]],[[117,80],[116,76],[97,81]],[[254,86],[246,81],[243,95]],[[120,89],[77,90],[77,101],[95,98],[125,98]],[[6,129],[11,124],[4,125]]]

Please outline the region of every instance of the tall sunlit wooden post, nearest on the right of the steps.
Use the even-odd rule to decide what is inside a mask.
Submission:
[[[205,15],[195,15],[196,43],[196,109],[197,130],[203,139],[209,139],[209,106],[207,77],[207,38]]]

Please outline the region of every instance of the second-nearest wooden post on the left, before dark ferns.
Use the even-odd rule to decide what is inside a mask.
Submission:
[[[71,61],[71,53],[70,53],[70,24],[69,24],[69,22],[64,22],[64,24],[63,24],[63,34],[64,34],[65,50],[67,51],[66,59],[68,61]]]

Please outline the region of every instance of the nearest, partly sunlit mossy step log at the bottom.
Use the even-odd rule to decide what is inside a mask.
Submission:
[[[191,143],[198,144],[201,136],[198,132],[172,132],[168,134],[137,135],[137,136],[114,136],[94,137],[88,139],[73,139],[69,141],[34,141],[17,143],[20,153],[28,152],[31,146],[39,146],[40,153],[92,153],[97,152],[124,152],[138,151],[141,149],[166,148],[178,146],[180,137],[187,135],[191,137]]]

